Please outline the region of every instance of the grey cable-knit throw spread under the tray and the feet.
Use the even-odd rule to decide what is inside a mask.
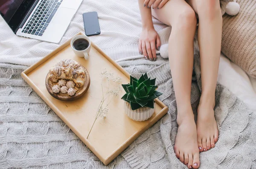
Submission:
[[[186,169],[175,156],[177,107],[168,60],[119,63],[130,74],[157,77],[159,97],[169,112],[108,166],[79,140],[20,77],[26,66],[0,64],[0,169]],[[191,104],[196,114],[201,91],[195,54]],[[200,153],[201,169],[256,169],[256,115],[221,84],[216,89],[216,146]]]

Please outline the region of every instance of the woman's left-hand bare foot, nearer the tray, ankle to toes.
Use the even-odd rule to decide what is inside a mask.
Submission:
[[[179,125],[175,139],[175,154],[189,169],[197,169],[200,165],[197,132],[192,109],[179,114],[177,117]]]

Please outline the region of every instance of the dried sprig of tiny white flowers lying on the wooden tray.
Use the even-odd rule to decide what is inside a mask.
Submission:
[[[97,109],[97,112],[96,112],[96,116],[95,116],[95,119],[94,119],[94,122],[93,122],[93,125],[90,129],[90,132],[92,131],[93,129],[93,126],[94,126],[94,123],[96,122],[96,120],[99,118],[99,117],[102,117],[103,119],[105,119],[107,117],[107,114],[108,114],[108,105],[111,103],[111,101],[113,100],[114,97],[118,96],[119,92],[121,91],[121,80],[122,78],[121,77],[114,77],[114,74],[111,73],[111,72],[107,72],[106,69],[104,69],[101,73],[100,73],[101,77],[102,77],[102,80],[103,79],[107,79],[108,80],[108,87],[107,87],[107,92],[104,94],[104,91],[103,91],[103,86],[102,86],[102,100],[101,102],[99,103],[99,107]],[[89,134],[87,135],[87,139],[90,135],[90,132]]]

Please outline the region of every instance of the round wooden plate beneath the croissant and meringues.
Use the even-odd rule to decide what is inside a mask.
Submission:
[[[75,99],[78,99],[78,98],[82,97],[84,95],[84,93],[87,92],[87,90],[88,90],[88,88],[90,86],[90,75],[89,75],[89,72],[87,71],[87,69],[85,69],[84,66],[82,66],[82,68],[84,69],[84,72],[86,74],[86,77],[84,79],[84,86],[82,86],[81,88],[77,88],[75,86],[74,89],[76,89],[76,94],[73,95],[73,96],[70,96],[67,93],[61,93],[61,92],[54,93],[54,92],[52,92],[52,86],[58,85],[58,82],[55,83],[55,82],[52,82],[51,80],[49,80],[50,74],[48,73],[47,76],[46,76],[46,79],[45,79],[45,86],[46,86],[46,89],[49,92],[49,94],[52,97],[54,97],[55,99],[63,100],[63,101],[75,100]]]

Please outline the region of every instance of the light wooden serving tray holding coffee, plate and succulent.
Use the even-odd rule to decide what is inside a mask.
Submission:
[[[82,33],[80,32],[79,34]],[[143,122],[131,120],[124,112],[124,100],[120,99],[125,94],[125,91],[122,90],[119,96],[108,106],[108,116],[105,119],[98,118],[96,120],[90,136],[86,139],[102,99],[102,77],[100,72],[104,69],[108,72],[113,72],[115,76],[122,77],[122,84],[129,83],[130,75],[93,42],[91,43],[89,60],[77,57],[71,49],[70,40],[38,63],[30,66],[21,73],[21,76],[86,146],[105,165],[108,165],[145,130],[163,117],[168,112],[168,108],[160,100],[156,99],[155,112],[150,119]],[[45,86],[45,77],[49,69],[65,58],[77,61],[90,74],[89,89],[83,97],[73,101],[55,99],[47,92]]]

